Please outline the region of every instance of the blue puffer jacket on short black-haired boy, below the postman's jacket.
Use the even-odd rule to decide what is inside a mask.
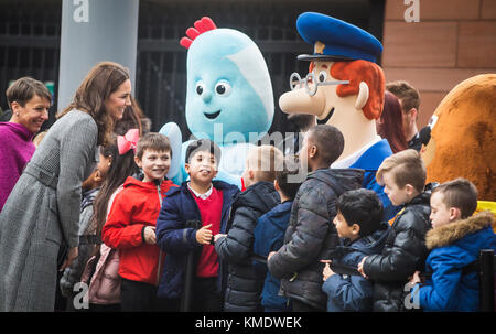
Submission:
[[[332,261],[335,265],[345,265],[357,268],[366,256],[380,254],[390,228],[384,222],[371,235],[362,237],[353,243],[344,244],[333,252]],[[369,312],[373,306],[373,282],[359,274],[333,274],[322,285],[327,293],[328,312]]]

